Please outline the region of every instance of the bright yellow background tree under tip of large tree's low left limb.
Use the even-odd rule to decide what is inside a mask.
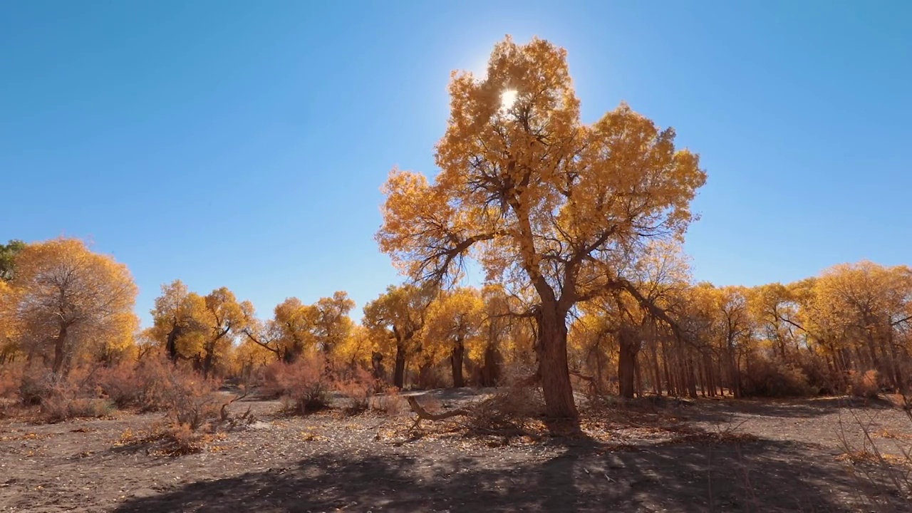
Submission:
[[[441,292],[430,305],[425,326],[425,351],[430,344],[440,344],[449,353],[453,386],[465,386],[463,362],[466,345],[481,335],[484,320],[482,294],[476,288],[456,288]]]

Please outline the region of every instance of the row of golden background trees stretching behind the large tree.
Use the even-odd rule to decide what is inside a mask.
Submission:
[[[162,285],[140,330],[130,271],[75,239],[3,246],[0,268],[8,390],[25,374],[162,359],[203,378],[251,382],[270,366],[322,359],[399,389],[495,387],[534,376],[541,343],[534,298],[503,284],[391,285],[364,306],[344,291],[269,317],[228,288],[202,295]],[[906,391],[912,271],[841,264],[782,285],[692,283],[679,246],[645,247],[632,289],[568,313],[567,379],[579,390],[633,398],[802,396]]]

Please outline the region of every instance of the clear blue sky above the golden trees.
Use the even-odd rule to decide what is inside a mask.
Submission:
[[[174,278],[360,309],[399,280],[380,184],[434,173],[451,69],[512,34],[567,48],[587,121],[627,100],[700,152],[696,278],[912,263],[912,3],[561,4],[4,2],[0,240],[91,238],[147,323]]]

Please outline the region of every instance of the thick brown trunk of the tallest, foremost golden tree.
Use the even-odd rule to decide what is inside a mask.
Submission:
[[[545,413],[554,419],[579,416],[567,366],[567,327],[556,305],[542,305],[538,318],[538,370],[542,379]],[[550,308],[549,308],[550,307]]]

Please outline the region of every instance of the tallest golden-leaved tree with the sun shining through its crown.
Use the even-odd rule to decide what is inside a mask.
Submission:
[[[575,418],[568,313],[632,287],[619,260],[682,237],[706,175],[673,130],[627,105],[583,124],[566,52],[542,39],[498,43],[487,76],[453,74],[450,95],[440,173],[390,173],[378,244],[415,279],[453,280],[474,257],[491,280],[534,288],[547,412]]]

